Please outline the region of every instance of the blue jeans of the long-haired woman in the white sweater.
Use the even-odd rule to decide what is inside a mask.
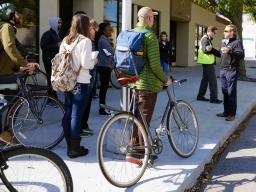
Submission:
[[[73,91],[65,92],[65,114],[62,119],[65,137],[80,139],[82,117],[90,94],[90,84],[82,83],[77,83]]]

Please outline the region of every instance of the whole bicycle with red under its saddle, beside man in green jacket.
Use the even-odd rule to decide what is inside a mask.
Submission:
[[[122,78],[126,85],[137,81],[136,78]],[[105,178],[117,187],[130,187],[143,176],[148,165],[154,163],[155,155],[163,150],[161,137],[167,132],[168,140],[175,153],[183,158],[190,157],[196,150],[199,127],[196,114],[191,105],[177,100],[174,83],[181,85],[184,80],[173,80],[174,98],[168,88],[168,103],[159,127],[153,137],[142,114],[141,107],[136,107],[138,95],[131,89],[132,97],[128,111],[110,106],[102,106],[117,114],[110,117],[102,126],[97,146],[100,169]],[[138,120],[138,115],[142,121]]]

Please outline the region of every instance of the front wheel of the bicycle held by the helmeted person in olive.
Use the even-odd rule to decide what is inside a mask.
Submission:
[[[52,149],[64,137],[62,118],[64,108],[50,96],[33,96],[15,106],[11,116],[14,137],[25,146]]]

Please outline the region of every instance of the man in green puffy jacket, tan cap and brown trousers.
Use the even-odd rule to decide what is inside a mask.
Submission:
[[[151,29],[154,23],[154,15],[157,14],[150,7],[142,7],[138,12],[139,22],[134,29],[135,31],[149,31],[145,34],[142,42],[143,52],[145,53],[143,70],[139,74],[139,81],[134,84],[139,97],[138,105],[142,108],[148,126],[154,112],[157,93],[163,89],[163,85],[171,84],[171,79],[165,76],[161,67],[158,39]],[[138,117],[138,119],[142,121],[141,117]],[[138,133],[134,134],[134,137],[139,139],[140,135]]]

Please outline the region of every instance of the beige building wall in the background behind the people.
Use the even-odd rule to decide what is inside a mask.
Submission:
[[[61,2],[61,1],[60,1]],[[170,15],[171,5],[170,0],[133,0],[136,5],[149,6],[153,9],[160,11],[160,32],[170,31]],[[50,6],[49,6],[50,5]],[[59,0],[40,0],[40,37],[46,31],[48,20],[52,16],[59,15]],[[47,11],[44,11],[47,10]],[[89,16],[93,17],[98,23],[103,21],[104,16],[104,0],[74,0],[73,11],[85,11]],[[137,7],[134,10],[134,23],[137,22],[136,18]],[[190,22],[177,22],[177,61],[178,66],[195,66],[195,29],[196,25],[215,25],[219,30],[213,41],[215,47],[219,47],[223,36],[225,25],[216,21],[216,15],[208,10],[197,6],[192,3],[191,8],[191,21]]]

